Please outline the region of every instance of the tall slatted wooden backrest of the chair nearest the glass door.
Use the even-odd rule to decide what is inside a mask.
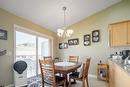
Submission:
[[[42,74],[42,87],[44,87],[44,82],[55,87],[56,82],[54,73],[55,72],[54,61],[51,58],[47,58],[39,60],[39,62]]]

